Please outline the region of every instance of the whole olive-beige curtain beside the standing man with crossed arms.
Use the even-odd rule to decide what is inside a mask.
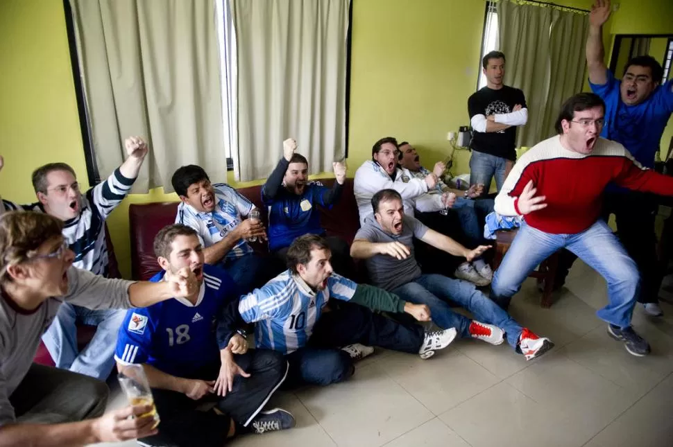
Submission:
[[[518,129],[517,146],[534,146],[553,134],[563,100],[581,91],[588,18],[509,0],[496,7],[500,51],[507,61],[504,82],[522,89],[528,105],[528,123]]]

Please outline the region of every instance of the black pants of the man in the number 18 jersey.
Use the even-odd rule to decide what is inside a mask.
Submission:
[[[167,447],[221,447],[232,420],[240,426],[248,426],[285,379],[288,365],[282,354],[266,349],[250,349],[235,356],[235,360],[250,377],[236,376],[232,391],[224,397],[212,394],[194,401],[182,393],[153,388],[161,423],[159,433],[143,438],[142,443]],[[198,378],[215,380],[219,367],[212,365],[201,371]],[[224,415],[213,410],[196,410],[208,401],[216,401],[217,409]]]

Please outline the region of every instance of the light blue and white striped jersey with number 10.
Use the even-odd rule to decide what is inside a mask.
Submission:
[[[286,270],[241,297],[239,312],[246,322],[255,323],[257,348],[289,354],[306,345],[331,297],[350,301],[356,288],[357,283],[332,274],[325,290],[316,293]]]

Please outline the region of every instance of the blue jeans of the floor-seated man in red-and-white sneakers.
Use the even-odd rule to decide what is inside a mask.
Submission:
[[[461,337],[470,337],[472,319],[455,313],[450,302],[469,310],[478,322],[494,324],[506,332],[507,342],[514,349],[519,343],[522,327],[475,285],[441,274],[422,274],[411,283],[391,290],[404,301],[425,304],[430,308],[432,321],[443,329],[456,328]]]

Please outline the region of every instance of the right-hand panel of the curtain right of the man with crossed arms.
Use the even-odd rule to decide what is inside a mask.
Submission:
[[[586,15],[563,10],[552,12],[550,88],[543,112],[543,133],[540,134],[540,139],[556,134],[554,123],[561,105],[570,96],[582,91],[588,32],[589,21]]]

